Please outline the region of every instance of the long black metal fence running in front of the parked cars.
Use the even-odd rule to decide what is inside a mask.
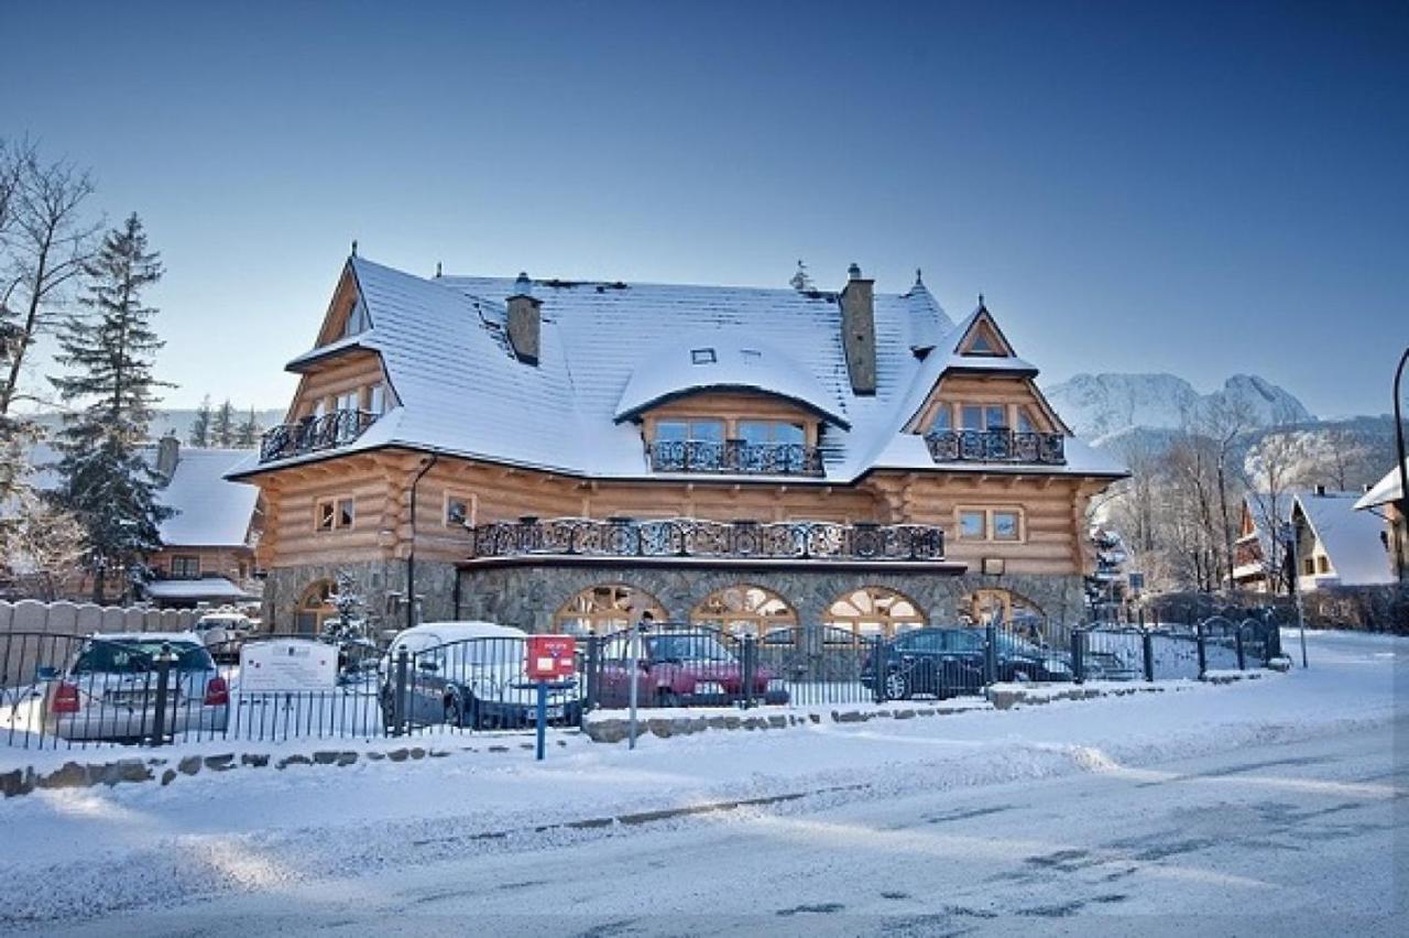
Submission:
[[[418,630],[385,649],[311,645],[328,673],[335,658],[335,683],[265,690],[266,680],[241,673],[259,655],[241,651],[283,638],[201,645],[190,634],[0,632],[0,745],[371,739],[523,730],[537,717],[521,637],[442,641]],[[641,708],[827,707],[982,694],[1005,682],[1199,679],[1279,655],[1275,624],[1220,617],[1153,630],[914,628],[892,638],[666,623],[579,638],[576,679],[548,687],[544,707],[552,725],[576,727],[585,713],[626,708],[633,692]]]

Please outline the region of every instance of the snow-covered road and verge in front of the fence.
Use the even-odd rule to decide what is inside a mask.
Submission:
[[[875,914],[960,914],[944,911],[952,896],[926,894],[923,884],[972,862],[958,903],[978,910],[964,917],[968,927],[992,924],[983,910],[1020,911],[1005,897],[1037,896],[1034,907],[1058,908],[1043,896],[1061,866],[1092,866],[1062,859],[1064,849],[1096,858],[1103,875],[1134,869],[1069,914],[1186,913],[1198,907],[1191,899],[1213,901],[1205,894],[1243,897],[1258,913],[1329,907],[1317,883],[1340,890],[1337,907],[1343,890],[1358,889],[1363,903],[1351,908],[1384,913],[1399,894],[1395,841],[1379,832],[1394,827],[1385,813],[1398,818],[1401,838],[1409,831],[1401,807],[1409,789],[1391,744],[1403,735],[1396,677],[1403,690],[1409,641],[1313,634],[1309,644],[1309,670],[1177,694],[647,738],[634,752],[564,734],[555,742],[565,745],[554,745],[542,765],[519,748],[488,751],[497,741],[465,739],[476,751],[423,762],[41,792],[0,803],[0,931],[72,932],[93,920],[90,934],[186,934],[273,917],[280,928],[341,923],[338,934],[396,932],[427,924],[417,924],[418,914],[471,915],[480,907],[507,915],[510,927],[514,908],[541,915],[557,901],[552,883],[561,877],[561,896],[572,897],[569,930],[609,924],[617,908],[624,920],[666,917],[643,920],[635,934],[707,931],[703,920],[671,925],[674,914],[766,914],[768,931],[796,932],[831,921],[813,908],[828,903]],[[1285,645],[1295,648],[1292,635]],[[1023,811],[992,825],[979,820],[1014,800]],[[923,821],[945,811],[976,820],[964,821],[962,837]],[[1347,879],[1350,868],[1337,865],[1350,855],[1341,841],[1326,841],[1316,845],[1324,876],[1308,879],[1306,865],[1322,861],[1298,845],[1298,831],[1323,824],[1319,811],[1341,811],[1346,824],[1360,825],[1351,831],[1360,839],[1346,844],[1365,869]],[[1288,823],[1302,814],[1306,824]],[[1164,841],[1178,841],[1186,825],[1192,846],[1168,856],[1141,851],[1140,838],[1158,834],[1141,827],[1155,815],[1172,825]],[[1216,852],[1222,830],[1255,839],[1262,824],[1277,861],[1265,882],[1255,863],[1219,872],[1217,861],[1200,855]],[[1069,846],[1098,835],[1099,849]],[[776,875],[750,861],[755,851],[817,879],[779,894]],[[637,862],[627,872],[628,859],[643,856],[659,866]],[[1051,862],[1031,859],[1041,856]],[[876,869],[903,884],[885,889]],[[1027,877],[976,890],[982,876],[1014,869]],[[741,870],[758,877],[757,889],[740,880]],[[1261,884],[1250,886],[1253,879]],[[862,883],[871,904],[850,897]],[[819,890],[833,899],[817,899]],[[886,892],[905,899],[883,899]],[[979,893],[993,903],[975,904]],[[1109,894],[1124,899],[1100,899]],[[472,920],[462,921],[469,928]],[[541,917],[519,924],[564,930]],[[444,918],[435,927],[455,931]]]

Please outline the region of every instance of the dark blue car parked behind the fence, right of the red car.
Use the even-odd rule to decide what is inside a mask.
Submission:
[[[1044,652],[1012,632],[996,634],[999,682],[1071,680],[1071,665],[1062,655]],[[919,628],[881,646],[883,690],[890,700],[914,694],[952,697],[983,689],[985,631],[981,628]],[[861,679],[872,686],[876,662],[868,656]]]

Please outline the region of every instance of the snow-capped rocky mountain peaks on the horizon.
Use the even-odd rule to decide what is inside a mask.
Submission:
[[[1219,411],[1240,414],[1250,430],[1316,420],[1289,392],[1255,375],[1234,375],[1209,394],[1175,375],[1076,375],[1048,387],[1047,397],[1093,442],[1136,427],[1195,427]]]

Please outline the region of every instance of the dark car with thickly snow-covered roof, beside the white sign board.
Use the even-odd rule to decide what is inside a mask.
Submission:
[[[379,666],[379,700],[395,723],[399,658],[409,654],[403,718],[413,727],[449,724],[521,728],[537,723],[538,692],[524,661],[523,630],[495,623],[424,623],[399,632]],[[582,721],[578,684],[548,692],[548,721]]]

